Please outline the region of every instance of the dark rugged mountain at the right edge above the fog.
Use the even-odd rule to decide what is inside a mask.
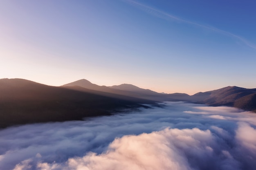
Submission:
[[[191,100],[212,106],[234,106],[244,110],[256,109],[256,88],[227,86],[218,90],[196,93]]]

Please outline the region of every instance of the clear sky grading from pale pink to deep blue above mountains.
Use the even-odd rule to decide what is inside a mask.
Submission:
[[[1,0],[0,78],[256,88],[256,1]]]

